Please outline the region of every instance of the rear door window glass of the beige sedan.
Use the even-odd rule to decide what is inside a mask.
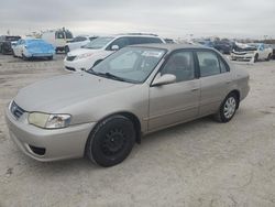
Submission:
[[[217,55],[212,52],[197,52],[200,76],[207,77],[220,74],[220,65]]]

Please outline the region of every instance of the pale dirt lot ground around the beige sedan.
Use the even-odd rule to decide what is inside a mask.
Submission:
[[[29,84],[65,74],[63,56],[0,55],[0,207],[275,206],[275,61],[240,64],[251,92],[226,124],[204,118],[151,134],[120,165],[40,163],[10,140],[3,108]]]

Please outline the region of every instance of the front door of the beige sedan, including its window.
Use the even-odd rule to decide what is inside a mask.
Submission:
[[[173,74],[177,79],[173,84],[151,86],[150,131],[188,121],[198,116],[200,84],[195,72],[191,51],[178,51],[169,56],[157,76]]]

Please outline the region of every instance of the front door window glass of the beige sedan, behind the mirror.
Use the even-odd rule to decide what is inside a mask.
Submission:
[[[176,81],[186,81],[195,78],[193,52],[180,51],[172,54],[163,67],[161,75],[172,74]]]

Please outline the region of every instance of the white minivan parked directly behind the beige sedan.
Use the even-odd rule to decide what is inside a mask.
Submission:
[[[165,41],[154,34],[141,33],[101,36],[82,48],[69,52],[64,59],[64,65],[70,72],[87,70],[124,46],[146,43],[165,43]]]

